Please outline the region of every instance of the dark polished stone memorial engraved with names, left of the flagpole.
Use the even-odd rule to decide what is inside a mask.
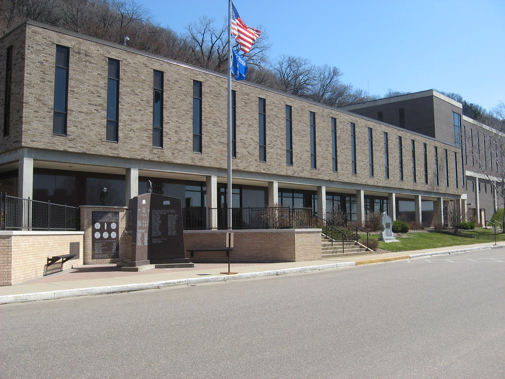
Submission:
[[[130,200],[132,260],[127,267],[190,267],[185,257],[181,200],[147,193]]]

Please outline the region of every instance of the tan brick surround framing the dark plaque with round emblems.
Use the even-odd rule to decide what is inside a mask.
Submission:
[[[123,259],[129,258],[131,252],[131,235],[127,236],[126,215],[127,208],[125,207],[81,207],[81,230],[84,231],[84,264],[102,264],[116,263]],[[92,212],[119,212],[119,258],[111,259],[92,259],[92,241],[93,241],[93,222],[91,219]]]

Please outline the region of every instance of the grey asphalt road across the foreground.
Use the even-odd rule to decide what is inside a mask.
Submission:
[[[505,249],[0,306],[2,378],[505,378]]]

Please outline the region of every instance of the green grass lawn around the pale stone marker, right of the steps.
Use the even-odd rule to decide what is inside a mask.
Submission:
[[[366,240],[367,236],[361,234],[362,239]],[[371,234],[370,238],[378,239],[380,234]],[[407,233],[396,235],[397,240],[400,242],[380,242],[379,248],[388,251],[410,251],[421,249],[441,248],[445,246],[457,245],[472,245],[483,244],[487,242],[494,243],[494,234],[491,230],[477,228],[474,230],[461,230],[458,235],[450,234],[450,231],[423,231],[416,233]],[[497,234],[496,241],[505,241],[505,234]]]

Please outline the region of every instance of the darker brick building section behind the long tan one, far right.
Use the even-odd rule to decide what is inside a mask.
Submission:
[[[459,147],[463,165],[458,166],[458,176],[468,198],[469,214],[478,224],[484,224],[497,208],[503,207],[494,189],[495,184],[500,188],[503,181],[503,135],[463,115],[461,103],[430,89],[341,109]]]

